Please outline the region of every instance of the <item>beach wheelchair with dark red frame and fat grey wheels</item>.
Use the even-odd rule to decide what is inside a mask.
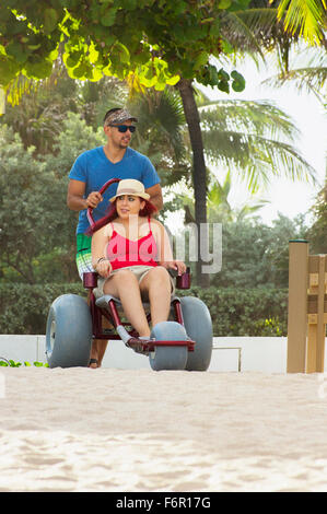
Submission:
[[[100,192],[103,194],[118,180],[108,180]],[[87,218],[92,227],[100,227],[96,226],[98,222],[93,220],[91,209],[87,209]],[[49,367],[86,367],[93,339],[119,339],[132,351],[148,358],[153,371],[208,370],[212,353],[212,322],[208,307],[200,299],[173,295],[168,320],[155,325],[150,338],[143,339],[124,318],[119,299],[108,294],[95,297],[93,290],[96,285],[97,273],[84,273],[83,287],[89,291],[89,304],[80,295],[63,294],[50,305],[46,325]],[[176,277],[176,288],[190,288],[189,268],[186,273]],[[143,306],[150,324],[150,305],[144,303]],[[113,328],[103,328],[103,316]]]

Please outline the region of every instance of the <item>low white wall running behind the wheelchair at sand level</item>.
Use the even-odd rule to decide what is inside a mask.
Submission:
[[[259,371],[285,373],[285,337],[215,337],[209,371]],[[0,357],[14,361],[46,362],[45,336],[0,335]],[[109,341],[104,367],[150,369],[144,355],[135,353],[119,340]]]

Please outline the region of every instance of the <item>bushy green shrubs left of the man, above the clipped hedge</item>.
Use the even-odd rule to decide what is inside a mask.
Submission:
[[[33,148],[25,150],[5,126],[0,142],[2,280],[75,281],[77,213],[66,203],[68,174],[77,155],[103,142],[102,132],[71,113],[54,144],[55,155],[37,160]]]

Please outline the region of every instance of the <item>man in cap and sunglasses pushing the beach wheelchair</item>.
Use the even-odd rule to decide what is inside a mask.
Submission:
[[[94,220],[104,217],[108,200],[116,194],[117,183],[100,195],[100,188],[110,178],[135,178],[143,183],[151,202],[160,210],[163,206],[160,177],[150,160],[129,148],[131,135],[136,130],[137,118],[125,108],[114,108],[104,117],[104,132],[107,142],[104,147],[87,150],[78,156],[70,174],[67,205],[80,211],[77,227],[77,265],[81,279],[83,273],[93,271],[91,237],[85,235],[89,227],[86,210],[91,207]],[[94,340],[91,351],[91,367],[101,366],[107,341]]]

